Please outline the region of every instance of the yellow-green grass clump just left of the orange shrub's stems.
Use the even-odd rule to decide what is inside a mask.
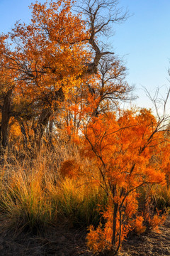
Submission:
[[[71,225],[98,225],[101,208],[106,205],[107,196],[100,187],[83,184],[72,178],[60,180],[51,189],[52,205],[56,205],[58,215],[69,220]]]

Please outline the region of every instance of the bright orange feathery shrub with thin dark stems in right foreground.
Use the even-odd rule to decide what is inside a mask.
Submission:
[[[96,230],[91,227],[87,236],[94,251],[113,250],[117,255],[122,240],[135,225],[145,230],[143,217],[137,212],[137,190],[147,184],[166,183],[167,169],[162,166],[169,161],[166,118],[156,119],[146,109],[127,110],[119,115],[101,114],[84,125],[84,155],[96,159],[101,178],[92,178],[109,198],[108,210],[103,213],[106,224]]]

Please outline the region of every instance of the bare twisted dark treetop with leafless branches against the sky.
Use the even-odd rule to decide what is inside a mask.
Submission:
[[[113,35],[113,23],[123,23],[129,14],[118,7],[118,0],[86,0],[78,2],[78,9],[84,14],[84,22],[89,28],[89,44],[94,51],[94,60],[88,63],[88,73],[97,73],[98,63],[103,56],[113,55],[106,50],[106,44],[100,43],[100,36]]]

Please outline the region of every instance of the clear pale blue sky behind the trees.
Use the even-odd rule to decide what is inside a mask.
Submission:
[[[17,20],[27,23],[31,2],[35,1],[0,0],[0,33],[9,31]],[[136,104],[151,107],[142,86],[149,91],[162,85],[170,86],[167,80],[170,68],[170,1],[120,0],[120,6],[128,8],[132,16],[115,26],[115,36],[111,38],[113,50],[125,60],[127,80],[130,85],[135,84],[139,96]],[[164,92],[165,87],[162,89]]]

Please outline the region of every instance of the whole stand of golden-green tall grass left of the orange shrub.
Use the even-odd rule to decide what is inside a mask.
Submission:
[[[0,216],[6,228],[38,233],[61,221],[98,225],[107,196],[87,178],[89,163],[80,159],[76,147],[60,144],[53,151],[44,147],[34,157],[11,157],[13,161],[4,157],[0,167]],[[62,162],[70,158],[81,161],[84,174],[77,178],[60,174]]]

